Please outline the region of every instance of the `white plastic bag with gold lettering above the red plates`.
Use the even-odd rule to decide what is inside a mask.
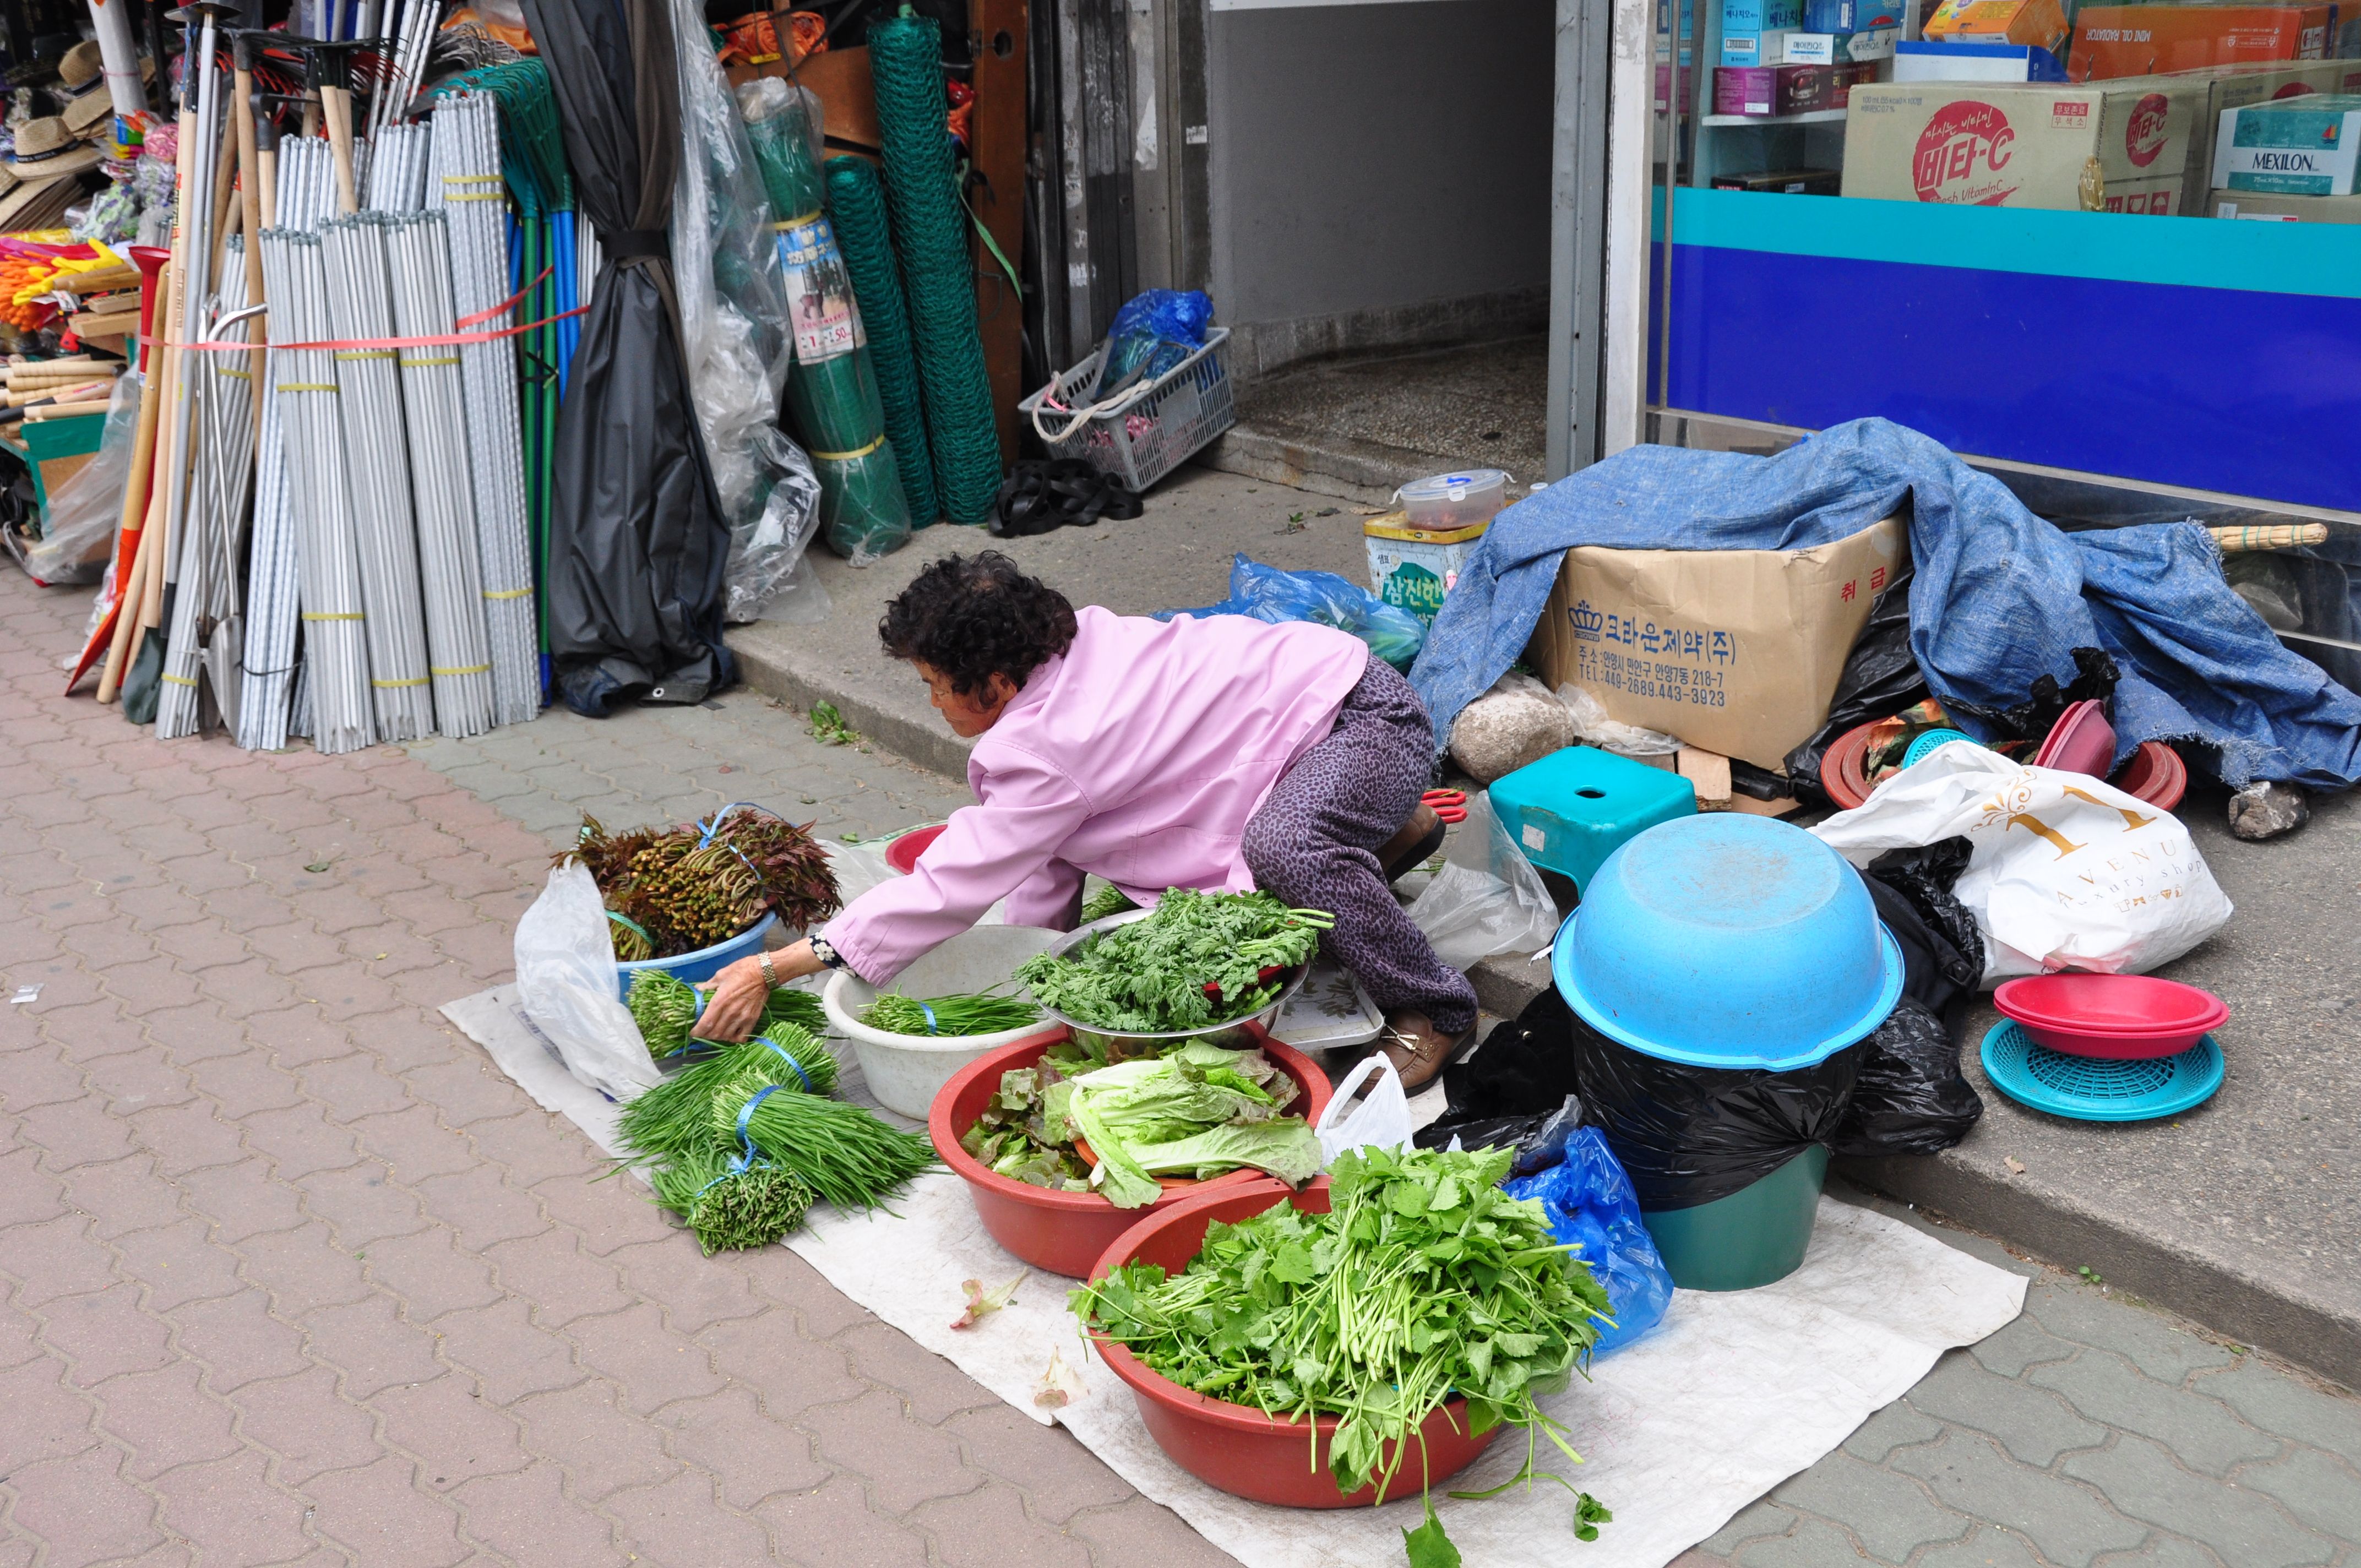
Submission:
[[[2189,829],[2089,775],[1936,746],[1868,801],[1811,829],[1856,867],[1964,836],[1953,888],[1983,933],[1983,982],[2085,968],[2144,975],[2231,914]]]

